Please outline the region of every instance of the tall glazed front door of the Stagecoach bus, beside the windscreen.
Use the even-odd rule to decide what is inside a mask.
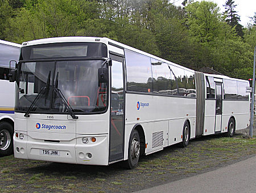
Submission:
[[[123,159],[124,141],[124,79],[122,57],[111,55],[111,93],[110,93],[110,140],[109,162]]]

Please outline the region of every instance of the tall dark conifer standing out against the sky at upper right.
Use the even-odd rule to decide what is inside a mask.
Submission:
[[[237,5],[234,4],[234,0],[227,0],[224,7],[225,12],[224,15],[226,16],[225,22],[228,23],[232,27],[236,27],[237,35],[243,37],[243,27],[239,23],[240,22],[240,16],[237,14],[237,11],[235,10]]]

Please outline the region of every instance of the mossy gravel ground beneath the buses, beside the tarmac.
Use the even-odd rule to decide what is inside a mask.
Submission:
[[[191,140],[143,156],[133,170],[122,162],[86,166],[0,157],[0,192],[133,192],[177,181],[256,155],[256,139],[243,139],[249,128]],[[255,129],[254,129],[255,135]]]

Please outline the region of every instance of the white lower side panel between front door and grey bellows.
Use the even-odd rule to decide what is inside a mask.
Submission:
[[[149,103],[137,109],[137,102]],[[137,120],[139,118],[139,120]],[[146,154],[182,141],[183,125],[191,123],[191,138],[195,138],[196,99],[152,95],[126,94],[125,155],[131,130],[136,124],[144,128]],[[152,148],[152,134],[163,131],[163,144]],[[125,157],[127,158],[127,157]]]

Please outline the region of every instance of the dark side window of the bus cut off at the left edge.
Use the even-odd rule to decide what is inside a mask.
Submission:
[[[10,61],[19,61],[20,48],[5,44],[0,44],[0,66],[9,68]],[[15,68],[15,62],[11,63],[11,67]]]

